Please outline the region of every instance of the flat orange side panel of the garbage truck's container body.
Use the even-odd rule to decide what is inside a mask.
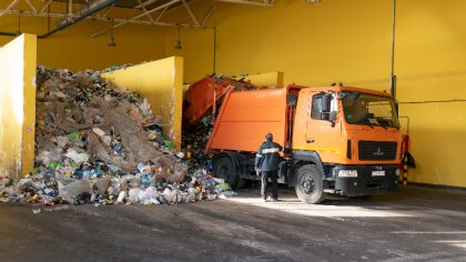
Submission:
[[[225,97],[206,150],[255,152],[267,132],[285,143],[287,89],[231,92]]]

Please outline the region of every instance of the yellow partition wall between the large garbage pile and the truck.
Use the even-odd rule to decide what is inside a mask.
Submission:
[[[154,115],[176,149],[181,149],[183,58],[172,57],[102,74],[115,85],[148,98]]]

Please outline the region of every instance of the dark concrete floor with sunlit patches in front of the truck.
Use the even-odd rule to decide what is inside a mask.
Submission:
[[[466,192],[276,203],[249,189],[176,206],[0,204],[0,261],[466,261]]]

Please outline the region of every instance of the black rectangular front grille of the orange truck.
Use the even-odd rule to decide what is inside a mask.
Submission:
[[[359,160],[395,160],[396,142],[359,141]]]

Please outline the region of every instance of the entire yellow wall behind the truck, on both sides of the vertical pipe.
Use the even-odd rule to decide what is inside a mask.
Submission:
[[[200,13],[205,1],[194,1]],[[417,169],[408,180],[466,187],[466,102],[406,103],[466,99],[464,0],[398,0],[395,73],[401,115],[411,119]],[[282,71],[285,84],[341,81],[389,90],[392,0],[275,1],[274,8],[215,3],[216,72],[239,75]],[[166,32],[166,54],[183,56],[185,81],[213,72],[213,30]],[[402,119],[403,123],[406,123]]]

